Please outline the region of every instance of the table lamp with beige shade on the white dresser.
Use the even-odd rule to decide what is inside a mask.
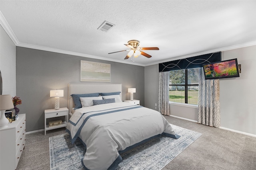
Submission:
[[[1,111],[0,127],[4,127],[8,125],[9,120],[5,117],[5,111],[7,109],[12,109],[13,107],[14,106],[12,103],[11,95],[0,95],[0,111]]]

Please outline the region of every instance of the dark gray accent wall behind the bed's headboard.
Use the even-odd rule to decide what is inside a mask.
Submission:
[[[68,107],[68,83],[95,83],[80,82],[81,60],[111,64],[110,83],[122,84],[122,100],[130,100],[128,88],[136,88],[134,99],[144,106],[143,66],[16,47],[16,92],[22,99],[18,108],[26,113],[27,132],[44,129],[44,110],[54,108],[50,90],[63,89],[60,107]]]

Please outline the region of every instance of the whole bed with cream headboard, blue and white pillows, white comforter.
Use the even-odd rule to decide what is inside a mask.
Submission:
[[[66,131],[72,143],[80,140],[86,147],[81,160],[86,170],[114,170],[122,161],[120,153],[161,135],[180,137],[158,111],[122,102],[122,84],[69,84],[68,88]],[[76,95],[86,96],[80,97],[79,107]]]

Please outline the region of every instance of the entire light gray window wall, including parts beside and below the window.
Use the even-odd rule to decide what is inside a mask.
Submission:
[[[242,64],[242,73],[220,79],[220,126],[256,135],[256,45],[222,51],[222,60],[234,58]],[[144,81],[145,106],[152,108],[158,101],[158,64],[145,67]],[[198,109],[170,104],[170,114],[197,121]]]

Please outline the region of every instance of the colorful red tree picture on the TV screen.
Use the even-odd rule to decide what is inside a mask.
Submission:
[[[206,77],[235,76],[237,75],[236,61],[231,60],[204,65],[204,72]]]

